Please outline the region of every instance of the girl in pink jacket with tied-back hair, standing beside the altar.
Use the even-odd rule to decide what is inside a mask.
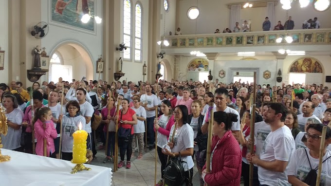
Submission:
[[[57,132],[52,121],[52,111],[48,107],[36,109],[33,123],[35,123],[35,133],[37,138],[36,153],[43,156],[44,139],[47,141],[47,157],[55,158],[54,139],[57,137]]]

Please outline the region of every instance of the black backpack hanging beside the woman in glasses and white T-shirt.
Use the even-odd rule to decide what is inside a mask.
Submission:
[[[165,186],[186,186],[183,164],[187,163],[182,161],[180,152],[179,159],[174,157],[167,162],[163,176]]]

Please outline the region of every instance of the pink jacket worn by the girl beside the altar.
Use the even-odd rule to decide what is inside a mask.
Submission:
[[[35,123],[35,133],[37,138],[36,153],[39,156],[44,155],[44,138],[47,140],[47,157],[50,156],[50,151],[55,152],[54,139],[57,137],[56,129],[52,120],[46,121],[46,129],[43,127],[43,122],[39,119]]]

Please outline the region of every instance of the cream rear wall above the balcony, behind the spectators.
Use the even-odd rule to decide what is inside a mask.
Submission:
[[[229,27],[230,9],[227,8],[228,3],[243,2],[244,0],[198,0],[198,8],[200,16],[197,18],[197,34],[214,33],[218,28],[223,31]],[[294,20],[294,29],[301,29],[304,20],[318,17],[322,28],[331,28],[331,8],[325,12],[317,12],[313,9],[312,3],[306,8],[300,8],[298,0],[292,3],[292,8],[289,10],[289,16]],[[179,1],[179,18],[178,23],[182,34],[195,34],[195,20],[187,18],[187,10],[196,6],[196,0],[180,0]],[[262,21],[266,17],[267,7],[241,9],[241,19],[251,19],[253,31],[262,30]],[[286,11],[281,8],[278,3],[275,6],[276,21],[280,20],[282,24],[286,19]],[[275,26],[275,25],[272,25]],[[233,29],[233,28],[231,28]]]

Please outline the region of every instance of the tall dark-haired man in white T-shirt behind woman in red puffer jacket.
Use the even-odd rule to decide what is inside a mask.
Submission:
[[[226,113],[234,113],[234,114],[238,115],[238,121],[232,122],[232,127],[231,127],[233,136],[235,136],[236,139],[238,139],[239,130],[240,130],[240,116],[236,110],[231,109],[230,107],[226,106],[226,98],[228,96],[229,96],[229,93],[226,89],[224,89],[224,88],[216,89],[215,97],[214,97],[215,104],[214,104],[213,110],[214,110],[214,112],[223,111]],[[210,116],[207,113],[208,113],[208,111],[206,112],[206,114],[204,115],[204,118],[203,118],[203,123],[202,123],[202,127],[201,127],[202,134],[206,134],[208,132],[208,125],[209,125],[208,122],[209,122]]]

